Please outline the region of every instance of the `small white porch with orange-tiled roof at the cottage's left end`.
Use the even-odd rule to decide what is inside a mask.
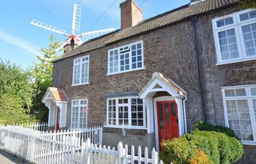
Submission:
[[[49,109],[48,126],[56,125],[56,109],[59,107],[59,127],[66,127],[67,120],[67,95],[64,90],[57,87],[48,87],[42,103]]]

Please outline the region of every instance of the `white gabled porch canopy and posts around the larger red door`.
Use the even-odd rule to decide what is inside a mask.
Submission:
[[[151,80],[139,93],[139,98],[143,98],[148,118],[148,133],[154,133],[154,129],[157,129],[157,125],[154,122],[157,120],[155,104],[153,104],[153,96],[155,93],[165,91],[169,93],[172,98],[176,101],[178,106],[178,130],[179,135],[183,135],[187,131],[186,123],[186,111],[184,108],[184,101],[187,100],[187,93],[181,87],[179,87],[173,80],[165,78],[161,73],[155,72],[152,75]],[[155,128],[154,128],[155,127]],[[156,130],[157,133],[157,130]]]

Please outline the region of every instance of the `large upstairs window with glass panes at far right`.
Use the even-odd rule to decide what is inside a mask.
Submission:
[[[218,17],[212,23],[218,64],[256,59],[256,10]]]

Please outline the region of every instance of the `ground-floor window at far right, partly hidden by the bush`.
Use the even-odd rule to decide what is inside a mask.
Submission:
[[[244,144],[256,144],[256,85],[222,88],[225,122]]]

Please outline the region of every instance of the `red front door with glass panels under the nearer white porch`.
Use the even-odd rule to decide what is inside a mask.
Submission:
[[[157,101],[159,149],[162,140],[178,137],[178,109],[176,101]]]

